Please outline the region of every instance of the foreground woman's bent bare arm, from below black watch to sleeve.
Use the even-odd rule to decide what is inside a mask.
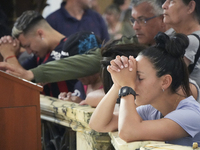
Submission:
[[[126,142],[139,140],[170,141],[187,137],[188,133],[175,121],[163,118],[142,120],[134,104],[134,96],[121,98],[119,111],[119,137]]]

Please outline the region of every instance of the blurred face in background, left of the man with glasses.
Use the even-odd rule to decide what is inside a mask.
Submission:
[[[119,21],[120,9],[117,5],[111,4],[105,9],[105,19],[108,25],[112,25]]]

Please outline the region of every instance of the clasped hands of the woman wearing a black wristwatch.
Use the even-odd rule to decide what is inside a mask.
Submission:
[[[110,64],[107,70],[115,85],[119,88],[123,86],[135,87],[137,66],[133,56],[129,56],[129,58],[116,56],[114,60],[110,61]]]

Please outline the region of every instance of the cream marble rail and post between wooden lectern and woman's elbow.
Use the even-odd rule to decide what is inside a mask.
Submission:
[[[107,133],[95,132],[88,125],[94,108],[44,95],[40,95],[40,107],[42,120],[70,127],[76,132],[77,150],[113,149]]]

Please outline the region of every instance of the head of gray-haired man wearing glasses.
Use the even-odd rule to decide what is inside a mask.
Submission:
[[[164,0],[132,0],[132,17],[130,19],[139,43],[152,45],[154,37],[166,31],[163,22],[162,3]]]

